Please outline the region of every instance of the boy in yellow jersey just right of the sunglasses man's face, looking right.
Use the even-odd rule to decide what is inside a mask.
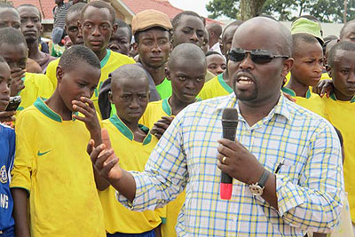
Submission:
[[[321,77],[323,50],[319,41],[310,34],[297,33],[292,35],[292,40],[292,58],[295,61],[289,83],[282,87],[282,91],[295,98],[296,104],[325,117],[324,101],[310,90],[310,86],[316,86]]]

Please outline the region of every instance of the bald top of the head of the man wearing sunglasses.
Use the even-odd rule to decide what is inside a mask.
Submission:
[[[241,39],[241,35],[244,36],[243,39]],[[235,47],[241,40],[248,40],[252,44],[254,40],[258,39],[264,41],[264,50],[275,48],[276,51],[272,51],[272,53],[291,56],[291,32],[280,22],[265,17],[252,18],[241,24],[233,36],[232,47]]]

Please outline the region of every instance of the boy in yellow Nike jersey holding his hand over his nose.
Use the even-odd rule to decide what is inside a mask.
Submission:
[[[85,151],[90,138],[101,143],[90,99],[99,76],[96,55],[84,46],[72,46],[60,58],[51,98],[37,99],[18,116],[10,186],[18,236],[105,236]]]

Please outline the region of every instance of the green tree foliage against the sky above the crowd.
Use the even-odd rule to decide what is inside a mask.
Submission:
[[[206,6],[209,17],[226,16],[232,19],[239,14],[240,0],[212,0]],[[267,0],[262,12],[277,20],[294,20],[310,14],[322,22],[343,22],[344,0]],[[347,20],[355,19],[355,0],[348,0]]]

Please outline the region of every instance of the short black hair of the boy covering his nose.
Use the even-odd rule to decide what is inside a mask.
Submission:
[[[89,64],[91,67],[101,69],[98,56],[91,51],[91,49],[83,45],[73,45],[69,49],[63,52],[59,59],[59,66],[70,72],[75,70],[77,62],[83,61]]]

